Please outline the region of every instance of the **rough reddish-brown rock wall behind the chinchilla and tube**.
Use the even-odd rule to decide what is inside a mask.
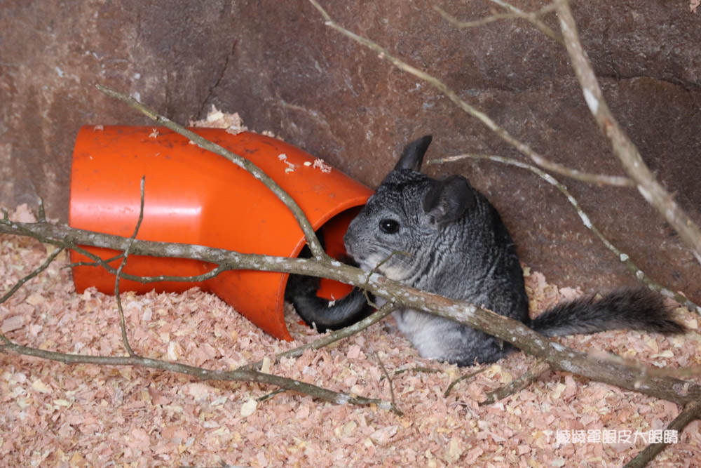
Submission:
[[[322,2],[368,36],[453,87],[548,158],[621,173],[588,113],[566,54],[529,23],[458,30],[425,1]],[[463,20],[489,1],[435,2]],[[524,0],[527,11],[545,2]],[[646,162],[701,222],[701,17],[688,3],[575,2],[585,49],[613,112]],[[545,22],[557,29],[557,18]],[[8,0],[0,9],[0,204],[36,203],[67,216],[73,140],[86,123],[147,120],[91,86],[139,95],[177,121],[210,105],[240,112],[370,186],[409,138],[435,135],[429,156],[521,157],[426,83],[323,25],[305,0]],[[551,281],[585,290],[634,280],[585,229],[559,192],[488,162],[460,172],[503,213],[522,259]],[[698,265],[633,189],[563,180],[592,221],[654,279],[701,300]],[[574,260],[574,261],[573,261]]]

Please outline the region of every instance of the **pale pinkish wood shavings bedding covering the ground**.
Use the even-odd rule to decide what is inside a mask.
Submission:
[[[0,236],[3,290],[41,265],[52,248]],[[123,356],[114,297],[95,290],[76,294],[64,265],[67,255],[0,305],[4,333],[41,349]],[[560,290],[542,275],[526,279],[538,309],[561,299]],[[290,310],[287,325],[295,342],[275,340],[197,289],[125,293],[123,307],[137,354],[205,368],[233,369],[318,336]],[[697,330],[697,316],[685,309],[677,314]],[[475,368],[421,359],[393,328],[387,319],[325,349],[283,359],[271,372],[390,399],[381,360],[402,416],[290,392],[257,401],[274,388],[254,383],[198,382],[143,368],[67,366],[0,354],[0,459],[4,466],[18,467],[620,466],[646,443],[640,436],[637,441],[604,441],[605,430],[647,437],[651,430],[664,429],[680,410],[674,403],[566,373],[547,373],[522,392],[479,406],[486,392],[510,382],[534,359],[512,354],[444,396],[452,381]],[[560,340],[576,349],[611,351],[654,365],[701,364],[697,333],[606,332]],[[569,441],[557,441],[556,431]],[[651,466],[701,466],[700,448],[697,421]]]

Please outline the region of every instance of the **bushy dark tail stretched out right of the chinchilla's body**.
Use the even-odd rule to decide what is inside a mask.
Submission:
[[[653,291],[622,289],[600,299],[580,297],[562,302],[531,321],[531,328],[545,336],[595,333],[627,328],[665,335],[684,333],[686,327],[671,318],[662,296]]]

